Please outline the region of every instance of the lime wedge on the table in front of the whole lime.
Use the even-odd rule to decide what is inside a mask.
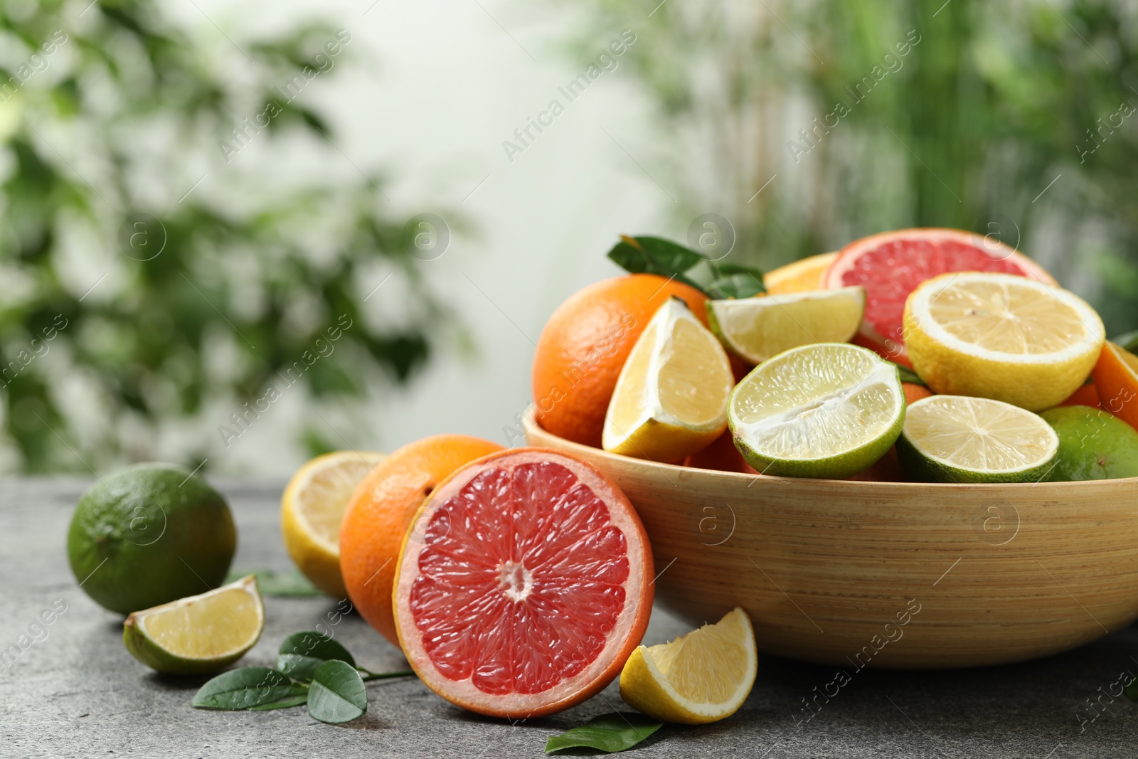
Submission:
[[[264,626],[257,578],[249,575],[201,595],[132,612],[123,622],[123,643],[159,673],[204,675],[245,655]]]

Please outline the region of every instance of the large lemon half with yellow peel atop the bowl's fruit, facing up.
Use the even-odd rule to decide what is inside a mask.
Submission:
[[[990,272],[941,274],[905,305],[909,360],[934,391],[1050,409],[1098,360],[1105,330],[1095,310],[1042,282]]]

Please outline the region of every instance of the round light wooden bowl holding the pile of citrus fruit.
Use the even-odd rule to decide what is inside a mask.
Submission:
[[[735,605],[760,651],[839,665],[998,665],[1138,617],[1138,478],[938,485],[764,477],[629,459],[523,420],[636,506],[655,597],[693,626]]]

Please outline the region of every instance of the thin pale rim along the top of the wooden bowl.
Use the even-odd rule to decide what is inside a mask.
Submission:
[[[775,475],[749,475],[747,472],[731,472],[723,471],[718,469],[703,469],[702,467],[684,467],[681,464],[668,464],[659,461],[651,461],[649,459],[636,459],[635,456],[625,456],[617,453],[611,453],[604,448],[594,448],[591,445],[584,445],[582,443],[575,443],[574,440],[568,440],[559,435],[555,435],[537,421],[537,406],[535,404],[529,404],[526,409],[526,413],[522,414],[522,431],[526,432],[527,437],[531,430],[536,430],[538,435],[549,436],[558,440],[558,445],[569,451],[583,452],[587,456],[604,459],[615,463],[624,464],[626,467],[642,467],[645,470],[659,470],[661,472],[700,472],[701,475],[711,476],[716,478],[727,478],[735,479],[737,481],[750,481],[754,479],[760,479],[764,482],[769,482],[772,485],[793,485],[807,480],[815,485],[815,487],[830,487],[833,486],[835,490],[843,493],[849,493],[850,488],[859,489],[869,494],[876,489],[884,489],[897,492],[898,489],[905,490],[933,490],[933,492],[949,492],[949,490],[983,490],[989,495],[996,496],[998,493],[1011,492],[1017,495],[1023,495],[1024,490],[1029,488],[1042,488],[1042,493],[1046,497],[1055,498],[1061,497],[1062,492],[1070,489],[1072,487],[1086,488],[1086,487],[1098,487],[1104,490],[1114,489],[1127,489],[1138,487],[1138,477],[1118,477],[1113,479],[1100,479],[1100,480],[1061,480],[1061,481],[1038,481],[1038,482],[892,482],[892,481],[877,481],[877,480],[851,480],[851,479],[823,479],[823,478],[805,478],[805,477],[778,477]],[[827,485],[828,484],[828,485]],[[1104,495],[1106,495],[1104,493]],[[1045,496],[1040,496],[1045,497]]]

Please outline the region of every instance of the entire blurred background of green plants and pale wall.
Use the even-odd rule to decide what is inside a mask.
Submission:
[[[514,444],[549,314],[708,213],[991,234],[1138,328],[1133,3],[0,9],[0,471]]]

